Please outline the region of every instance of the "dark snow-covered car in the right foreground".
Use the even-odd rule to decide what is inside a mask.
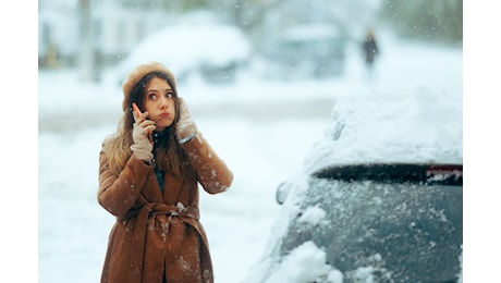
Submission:
[[[457,98],[338,99],[303,172],[278,187],[274,232],[247,282],[461,282]]]

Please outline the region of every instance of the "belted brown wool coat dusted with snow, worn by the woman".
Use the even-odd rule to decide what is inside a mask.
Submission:
[[[184,179],[166,174],[163,194],[152,165],[132,156],[117,176],[101,150],[98,201],[117,217],[101,282],[161,283],[163,275],[167,282],[213,282],[198,183],[218,194],[231,185],[233,174],[200,133],[183,148],[192,169]]]

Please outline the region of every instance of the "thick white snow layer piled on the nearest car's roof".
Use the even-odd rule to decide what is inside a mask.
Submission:
[[[463,162],[462,94],[365,91],[340,96],[306,172],[361,162]]]

